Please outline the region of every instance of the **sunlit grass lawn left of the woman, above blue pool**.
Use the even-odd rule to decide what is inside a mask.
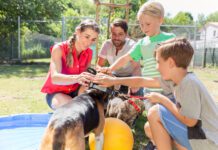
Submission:
[[[51,111],[40,88],[48,65],[0,66],[0,116]]]

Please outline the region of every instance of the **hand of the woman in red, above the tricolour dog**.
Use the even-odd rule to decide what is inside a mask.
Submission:
[[[88,87],[89,83],[94,80],[95,75],[88,73],[88,72],[82,72],[77,77],[77,82],[83,86]]]

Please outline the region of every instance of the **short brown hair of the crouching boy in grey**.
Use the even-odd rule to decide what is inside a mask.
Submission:
[[[161,58],[167,60],[171,57],[177,67],[186,69],[194,54],[194,49],[186,38],[173,38],[158,45],[154,55],[159,53]]]

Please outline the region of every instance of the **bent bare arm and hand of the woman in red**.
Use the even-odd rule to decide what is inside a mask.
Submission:
[[[83,72],[79,75],[65,75],[61,73],[62,70],[62,52],[59,46],[55,46],[51,54],[51,79],[53,84],[58,85],[70,85],[75,83],[80,83],[87,86],[87,83],[90,82],[92,75]]]

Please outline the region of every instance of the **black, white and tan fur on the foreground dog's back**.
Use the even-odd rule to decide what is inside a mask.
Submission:
[[[108,94],[97,89],[87,90],[61,106],[52,115],[40,146],[41,150],[72,150],[78,137],[95,129],[99,124],[99,110]],[[84,140],[84,139],[83,139]]]

